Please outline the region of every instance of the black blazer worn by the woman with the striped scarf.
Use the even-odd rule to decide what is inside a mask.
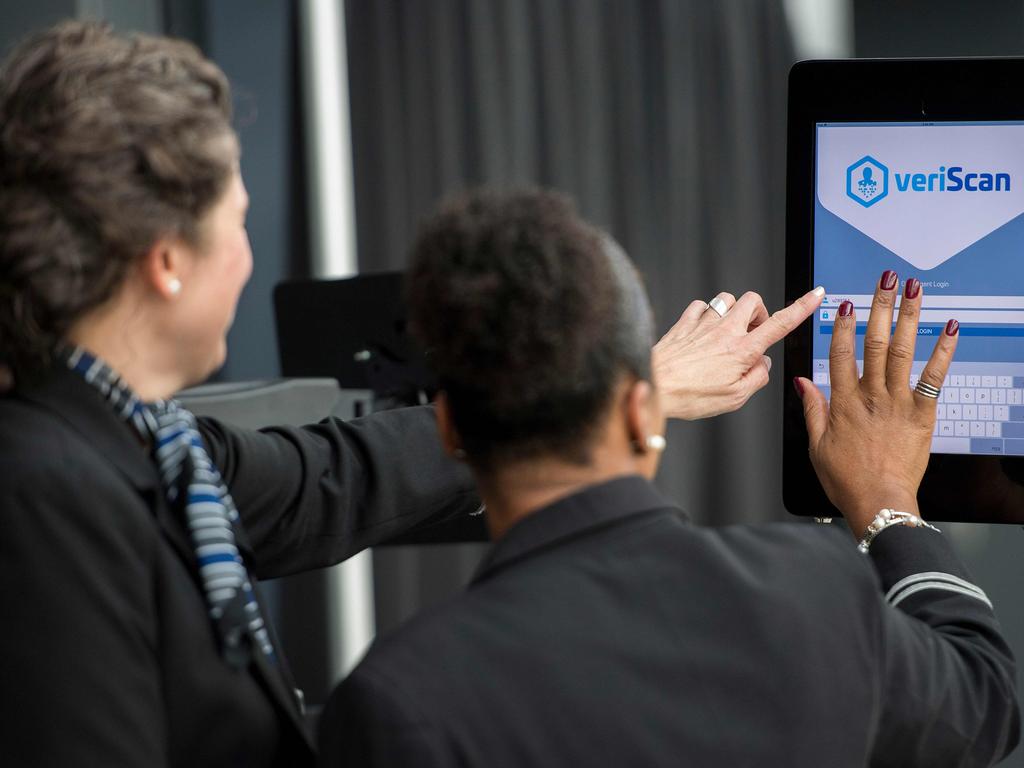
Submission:
[[[430,409],[201,429],[261,578],[478,506]],[[2,765],[312,763],[287,668],[222,662],[155,466],[70,372],[0,398],[0,622]]]

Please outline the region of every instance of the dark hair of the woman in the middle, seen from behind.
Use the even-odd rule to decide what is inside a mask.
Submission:
[[[650,377],[653,323],[632,263],[551,191],[476,191],[421,228],[408,273],[414,333],[482,470],[590,461],[621,377]]]

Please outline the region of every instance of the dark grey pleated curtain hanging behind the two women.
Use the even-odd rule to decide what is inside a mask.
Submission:
[[[346,11],[361,270],[403,267],[445,194],[542,184],[624,245],[662,330],[722,290],[781,305],[793,47],[780,2],[348,0]],[[740,413],[669,430],[658,484],[699,522],[784,514],[780,353]],[[408,612],[476,556],[379,555],[388,603]]]

